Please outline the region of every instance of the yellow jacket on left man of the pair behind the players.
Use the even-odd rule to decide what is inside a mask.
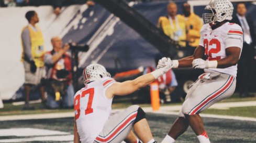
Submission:
[[[158,27],[172,40],[179,41],[179,45],[186,46],[186,25],[183,16],[177,15],[174,20],[167,16],[160,17]]]

